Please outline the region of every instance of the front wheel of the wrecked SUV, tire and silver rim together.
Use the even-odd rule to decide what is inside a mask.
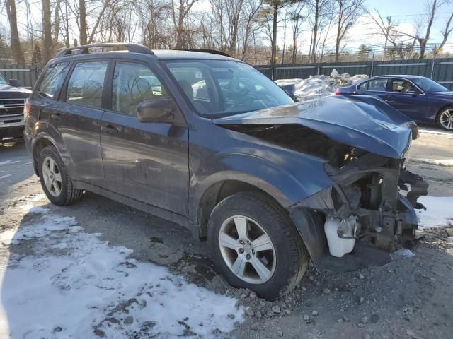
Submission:
[[[240,228],[246,237],[243,232],[240,236]],[[212,210],[207,237],[214,265],[226,281],[268,300],[292,290],[308,266],[309,255],[292,220],[265,194],[241,192],[225,198]],[[256,242],[258,238],[264,241]],[[248,244],[240,244],[241,239],[248,239]]]

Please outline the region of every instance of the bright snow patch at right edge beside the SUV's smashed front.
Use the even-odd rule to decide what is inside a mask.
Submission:
[[[426,210],[416,210],[418,228],[443,227],[453,222],[453,196],[420,196]]]

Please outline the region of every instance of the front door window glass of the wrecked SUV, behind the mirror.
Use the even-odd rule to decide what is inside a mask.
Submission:
[[[168,97],[159,79],[147,66],[117,62],[113,75],[112,110],[137,115],[140,102]]]

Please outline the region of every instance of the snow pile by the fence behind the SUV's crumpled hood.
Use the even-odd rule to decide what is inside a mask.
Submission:
[[[314,100],[320,97],[333,95],[339,86],[347,86],[366,79],[366,74],[350,76],[348,73],[338,74],[334,69],[331,76],[310,76],[308,79],[280,79],[277,85],[295,85],[294,95],[300,101]]]

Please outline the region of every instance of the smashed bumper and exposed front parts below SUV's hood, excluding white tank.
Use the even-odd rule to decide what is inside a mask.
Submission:
[[[411,245],[418,227],[415,208],[424,208],[417,200],[428,193],[428,183],[408,172],[404,160],[367,153],[340,169],[326,162],[325,169],[335,184],[289,208],[316,268],[379,266],[391,261],[389,252],[398,246]],[[357,220],[350,254],[331,256],[323,230],[326,218]],[[338,236],[343,237],[340,230]]]

